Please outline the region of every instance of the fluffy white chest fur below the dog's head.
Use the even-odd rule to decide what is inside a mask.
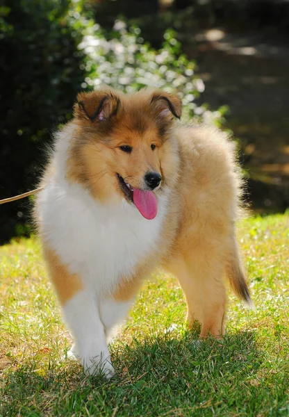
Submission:
[[[39,198],[44,240],[72,273],[92,291],[109,291],[120,276],[129,277],[149,252],[156,250],[168,196],[158,214],[146,220],[125,200],[119,206],[96,202],[78,185],[51,182]]]

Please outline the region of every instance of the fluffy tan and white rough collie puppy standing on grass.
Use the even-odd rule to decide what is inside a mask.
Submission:
[[[167,92],[101,88],[79,94],[56,135],[35,214],[72,352],[90,373],[113,375],[106,335],[157,265],[179,279],[201,337],[224,332],[225,275],[251,303],[233,144],[180,117]]]

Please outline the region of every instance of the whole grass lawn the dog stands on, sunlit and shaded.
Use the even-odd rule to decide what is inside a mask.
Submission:
[[[147,281],[110,345],[109,382],[63,360],[71,339],[38,240],[1,247],[1,416],[289,416],[289,217],[240,224],[256,310],[229,293],[227,333],[197,345],[173,277]]]

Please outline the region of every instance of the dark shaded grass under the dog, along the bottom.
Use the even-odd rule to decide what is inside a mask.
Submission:
[[[212,407],[225,415],[254,397],[264,357],[254,332],[200,343],[195,333],[174,338],[172,332],[131,345],[116,342],[111,350],[116,375],[110,381],[85,377],[72,361],[43,369],[26,363],[7,371],[1,383],[1,415],[204,416],[206,410],[212,415]]]

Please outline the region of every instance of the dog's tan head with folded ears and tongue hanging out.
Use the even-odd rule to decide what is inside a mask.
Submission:
[[[180,116],[181,100],[165,92],[124,95],[104,88],[81,93],[69,177],[102,202],[125,198],[145,218],[154,218],[158,193],[177,174],[171,132],[174,117]]]

